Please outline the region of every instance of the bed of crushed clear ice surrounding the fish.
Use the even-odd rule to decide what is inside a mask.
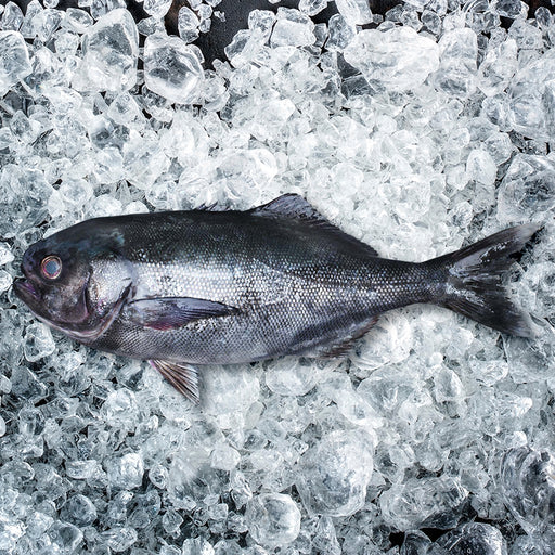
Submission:
[[[206,69],[190,42],[217,3],[184,8],[181,37],[166,1],[139,24],[121,1],[0,7],[0,552],[553,553],[552,15],[337,0],[314,26],[326,1],[301,0],[253,12]],[[344,360],[206,369],[194,406],[10,288],[81,219],[285,192],[414,261],[542,222],[507,276],[538,338],[412,307]]]

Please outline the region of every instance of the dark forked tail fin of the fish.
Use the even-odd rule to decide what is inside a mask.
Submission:
[[[533,336],[529,315],[507,299],[501,274],[512,264],[511,255],[520,251],[539,229],[534,223],[511,228],[426,262],[447,271],[444,297],[438,305],[506,334]]]

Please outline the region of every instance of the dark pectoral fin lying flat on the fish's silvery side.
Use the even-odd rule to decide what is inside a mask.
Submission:
[[[126,317],[133,323],[154,330],[175,330],[193,320],[234,314],[237,309],[222,302],[192,297],[139,299],[126,307]]]

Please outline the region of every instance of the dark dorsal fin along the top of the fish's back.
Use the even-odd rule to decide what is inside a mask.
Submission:
[[[348,235],[345,231],[341,231],[330,220],[324,218],[308,201],[295,193],[287,193],[270,201],[268,204],[257,206],[250,210],[250,214],[264,218],[300,220],[309,225],[314,225],[322,231],[328,232],[331,235],[350,246],[365,250],[369,256],[378,256],[374,248]]]

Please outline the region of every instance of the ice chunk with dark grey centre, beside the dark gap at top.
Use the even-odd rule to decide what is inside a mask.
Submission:
[[[146,87],[178,104],[190,104],[198,95],[204,72],[195,51],[181,38],[155,34],[144,43]]]

